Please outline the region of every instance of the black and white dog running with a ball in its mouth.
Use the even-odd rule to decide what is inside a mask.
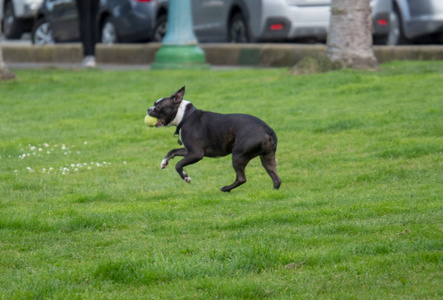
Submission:
[[[206,157],[220,157],[232,153],[232,165],[237,179],[231,185],[221,188],[223,192],[246,182],[245,168],[254,157],[260,156],[263,167],[268,172],[278,189],[281,179],[278,177],[275,162],[277,136],[262,120],[244,114],[217,114],[196,109],[192,103],[183,100],[185,87],[169,98],[158,99],[148,114],[158,118],[156,127],[176,126],[176,135],[180,135],[179,144],[184,148],[168,152],[161,162],[164,169],[175,156],[184,156],[175,169],[181,178],[191,182],[191,177],[183,167],[194,164]]]

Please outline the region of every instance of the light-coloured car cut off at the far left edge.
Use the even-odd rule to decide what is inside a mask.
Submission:
[[[19,39],[31,31],[34,17],[43,0],[0,0],[0,21],[7,39]]]

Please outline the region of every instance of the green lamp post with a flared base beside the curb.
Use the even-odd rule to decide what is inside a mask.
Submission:
[[[169,0],[168,28],[151,69],[209,69],[192,28],[190,0]]]

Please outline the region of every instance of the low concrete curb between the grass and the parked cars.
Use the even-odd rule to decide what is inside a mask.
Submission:
[[[152,64],[161,44],[97,45],[100,64]],[[306,56],[324,55],[324,45],[200,44],[206,61],[215,66],[292,67]],[[10,63],[79,63],[81,44],[2,45]],[[374,46],[379,63],[392,60],[443,60],[443,46]]]

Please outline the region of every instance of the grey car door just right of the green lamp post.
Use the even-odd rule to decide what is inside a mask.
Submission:
[[[192,0],[194,32],[201,42],[216,41],[223,38],[226,18],[224,0]]]

